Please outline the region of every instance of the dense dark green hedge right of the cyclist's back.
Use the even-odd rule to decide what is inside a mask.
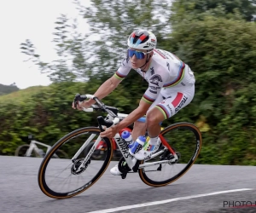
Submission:
[[[247,156],[256,164],[255,26],[208,15],[180,23],[166,43],[195,72],[195,98],[173,120],[207,124],[198,162],[240,164]]]

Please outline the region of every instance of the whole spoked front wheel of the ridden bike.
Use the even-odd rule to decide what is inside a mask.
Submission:
[[[113,154],[112,143],[108,138],[102,138],[106,142],[102,160],[94,160],[89,158],[88,153],[85,154],[84,149],[99,137],[100,132],[96,127],[74,130],[51,147],[38,170],[38,185],[44,194],[53,199],[67,199],[83,193],[96,183],[108,168]],[[55,158],[55,153],[58,154],[60,149],[67,155]],[[90,154],[93,149],[95,146],[91,147]],[[77,158],[72,160],[78,152]]]

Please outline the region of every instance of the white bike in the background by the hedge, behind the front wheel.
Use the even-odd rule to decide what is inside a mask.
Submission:
[[[45,153],[49,152],[49,149],[51,148],[51,146],[49,146],[45,143],[33,140],[32,135],[28,135],[27,138],[28,138],[29,144],[24,144],[24,145],[21,145],[20,147],[17,147],[15,150],[15,156],[44,158]],[[45,148],[39,148],[37,145],[39,145],[40,147],[45,147]],[[67,158],[67,153],[65,153],[59,149],[53,155],[53,157],[54,158]]]

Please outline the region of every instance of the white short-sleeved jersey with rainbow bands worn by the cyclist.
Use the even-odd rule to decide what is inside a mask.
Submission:
[[[124,79],[131,69],[129,58],[124,59],[114,76]],[[150,104],[159,95],[167,97],[174,90],[183,91],[195,84],[194,73],[189,66],[176,55],[162,49],[154,49],[148,71],[142,72],[141,69],[136,69],[136,71],[148,82],[148,89],[143,95],[143,100]]]

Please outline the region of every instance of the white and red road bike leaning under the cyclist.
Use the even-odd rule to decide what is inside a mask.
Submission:
[[[67,199],[83,193],[107,170],[113,154],[110,138],[102,138],[99,134],[104,127],[109,128],[118,124],[127,114],[119,113],[116,107],[106,106],[94,95],[76,95],[74,103],[87,98],[96,101],[95,105],[84,112],[102,111],[107,116],[97,117],[98,127],[90,126],[63,136],[49,150],[38,170],[38,185],[41,191],[52,199]],[[146,134],[147,135],[147,134]],[[194,125],[186,122],[172,124],[161,130],[160,147],[158,151],[144,160],[137,160],[129,153],[126,142],[117,133],[115,141],[122,153],[118,167],[122,172],[122,179],[127,174],[138,174],[140,179],[151,187],[162,187],[177,181],[195,163],[201,151],[201,132]],[[84,148],[90,141],[94,141],[90,152],[84,154]],[[104,158],[91,159],[100,141],[105,141]],[[67,152],[68,158],[52,158],[57,150]],[[113,176],[114,177],[114,176]]]

